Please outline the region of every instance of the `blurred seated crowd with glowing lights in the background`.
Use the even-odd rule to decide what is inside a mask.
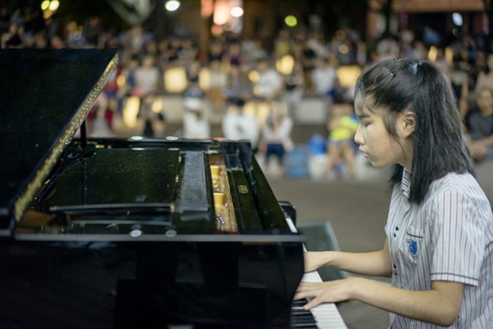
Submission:
[[[316,177],[352,177],[357,120],[354,82],[372,63],[388,58],[430,59],[449,77],[477,161],[493,159],[493,54],[480,36],[463,35],[444,45],[437,32],[404,30],[365,42],[343,28],[281,29],[272,40],[223,33],[201,42],[181,33],[157,39],[134,26],[106,28],[98,16],[84,22],[44,19],[26,7],[0,8],[2,48],[118,48],[119,66],[88,117],[90,136],[247,138],[263,163],[279,175],[296,145],[307,145]],[[168,98],[180,103],[167,105]],[[294,140],[293,128],[307,98],[323,104],[326,133]],[[180,125],[168,108],[180,109]],[[218,131],[213,128],[219,127]]]

